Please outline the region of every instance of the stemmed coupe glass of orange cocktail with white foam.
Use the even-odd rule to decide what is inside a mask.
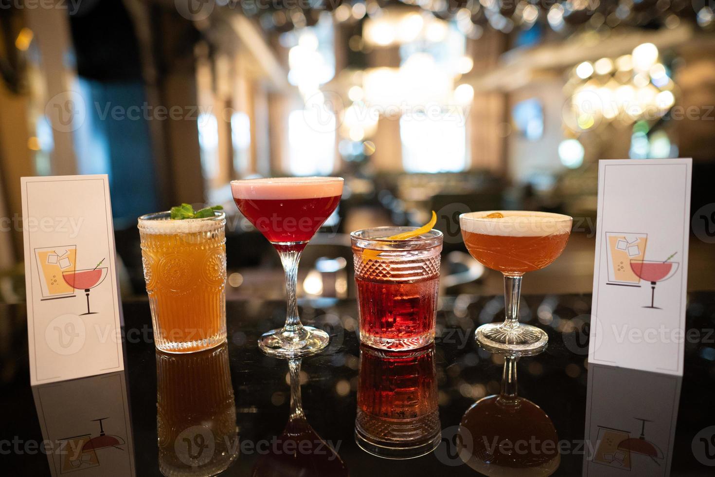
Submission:
[[[488,215],[502,215],[489,218]],[[462,237],[478,262],[504,275],[504,323],[477,328],[475,338],[490,350],[523,352],[546,346],[546,333],[519,323],[521,278],[561,255],[571,235],[568,215],[524,210],[470,212],[460,215]]]

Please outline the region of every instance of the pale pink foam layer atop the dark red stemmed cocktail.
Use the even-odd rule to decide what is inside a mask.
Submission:
[[[317,199],[342,195],[342,177],[268,177],[232,180],[236,199]]]

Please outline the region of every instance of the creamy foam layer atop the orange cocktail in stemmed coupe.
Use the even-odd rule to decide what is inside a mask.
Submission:
[[[487,215],[500,212],[501,219],[488,219]],[[459,216],[459,224],[466,232],[506,237],[543,237],[571,233],[573,219],[568,215],[529,210],[487,210]]]

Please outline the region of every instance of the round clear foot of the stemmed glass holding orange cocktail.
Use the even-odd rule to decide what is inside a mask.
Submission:
[[[536,326],[520,324],[510,330],[503,323],[489,323],[477,328],[475,340],[488,351],[519,356],[543,351],[548,335]]]

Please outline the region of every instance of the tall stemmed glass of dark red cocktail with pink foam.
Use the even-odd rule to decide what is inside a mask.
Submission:
[[[297,357],[327,346],[325,331],[303,326],[296,301],[300,253],[335,211],[342,177],[277,177],[231,181],[238,209],[275,247],[285,271],[287,314],[283,328],[258,340],[264,353]]]

